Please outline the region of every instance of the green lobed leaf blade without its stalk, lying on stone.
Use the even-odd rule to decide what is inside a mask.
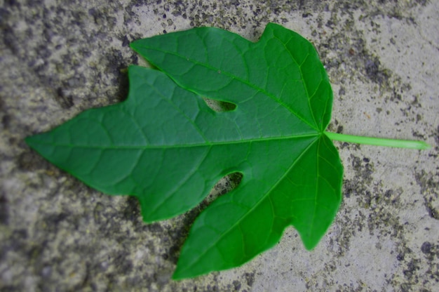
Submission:
[[[184,213],[219,178],[242,173],[196,219],[174,279],[242,265],[288,225],[316,246],[339,208],[343,170],[325,134],[330,83],[309,41],[269,24],[257,43],[203,27],[132,47],[165,73],[130,67],[125,102],[28,145],[97,190],[137,197],[146,222]],[[214,112],[203,97],[236,109]]]

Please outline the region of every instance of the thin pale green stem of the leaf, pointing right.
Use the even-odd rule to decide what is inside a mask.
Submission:
[[[331,132],[325,132],[325,134],[327,135],[327,138],[330,138],[331,140],[337,140],[342,142],[378,145],[378,146],[386,146],[386,147],[411,148],[418,150],[425,150],[431,148],[431,146],[424,141],[372,138],[372,137],[346,135],[346,134],[331,133]]]

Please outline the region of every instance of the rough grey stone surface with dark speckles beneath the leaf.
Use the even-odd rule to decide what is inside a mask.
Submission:
[[[0,4],[0,291],[438,291],[438,1]],[[314,251],[288,228],[243,267],[172,281],[203,204],[146,225],[135,199],[90,190],[23,138],[126,98],[126,67],[144,64],[133,39],[213,25],[255,41],[266,22],[318,49],[335,92],[331,131],[433,148],[337,142],[344,202]]]

